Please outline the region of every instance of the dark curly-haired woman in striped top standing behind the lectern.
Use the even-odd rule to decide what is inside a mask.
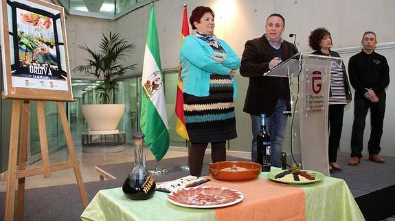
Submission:
[[[330,32],[323,28],[317,28],[311,31],[308,37],[308,44],[315,55],[327,55],[340,57],[339,53],[330,51],[332,47],[332,36]],[[341,171],[337,164],[337,150],[339,149],[341,130],[343,129],[343,113],[344,106],[351,102],[352,95],[350,91],[350,83],[346,73],[346,67],[339,60],[332,61],[330,70],[330,92],[329,92],[329,109],[328,109],[328,125],[329,125],[329,146],[328,156],[330,171]]]

